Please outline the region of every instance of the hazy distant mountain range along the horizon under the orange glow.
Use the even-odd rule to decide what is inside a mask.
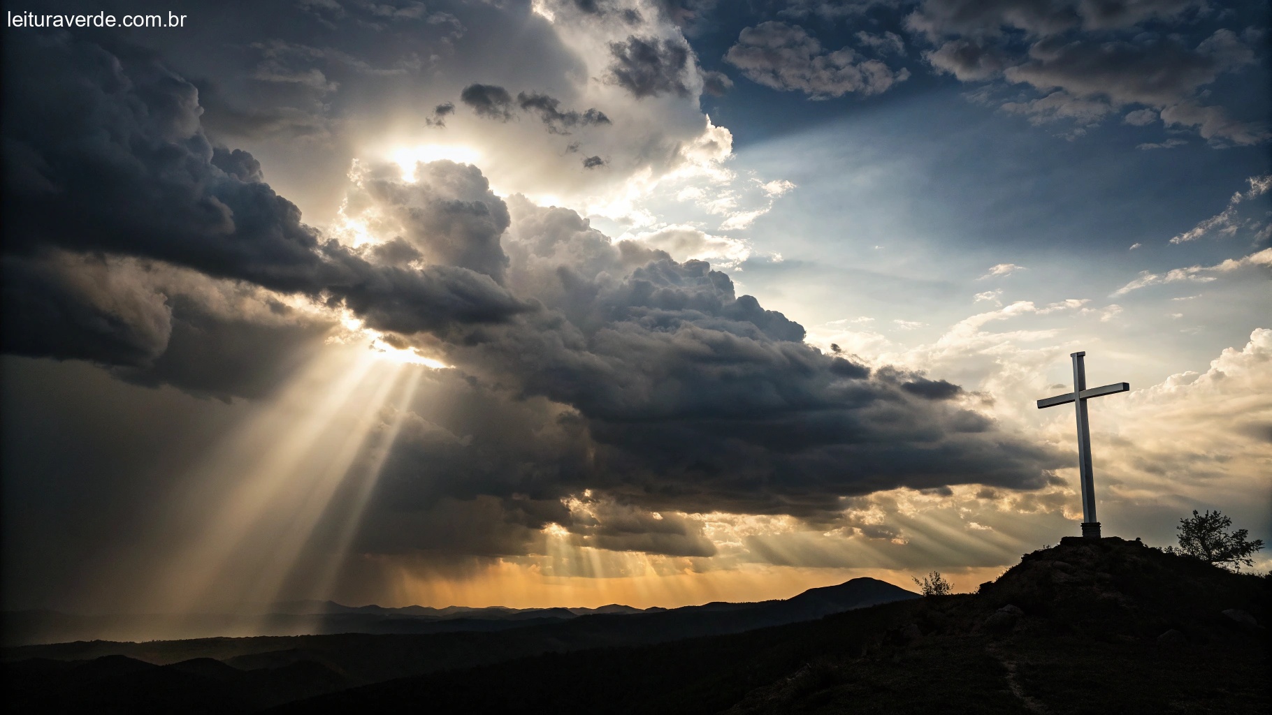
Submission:
[[[871,585],[874,584],[874,585]],[[906,596],[908,594],[908,596]],[[728,611],[763,606],[763,612],[784,613],[771,621],[819,618],[846,608],[856,608],[915,594],[875,579],[854,579],[845,584],[806,591],[789,601],[763,603],[707,603],[674,608]],[[785,603],[785,606],[776,606]],[[627,616],[661,613],[668,608],[633,608],[612,603],[599,608],[472,608],[448,606],[345,606],[333,601],[293,601],[261,607],[256,613],[102,615],[83,616],[57,611],[15,611],[3,616],[4,646],[69,643],[76,640],[190,640],[198,638],[294,636],[328,634],[439,634],[502,631],[532,625],[552,625],[584,616]]]

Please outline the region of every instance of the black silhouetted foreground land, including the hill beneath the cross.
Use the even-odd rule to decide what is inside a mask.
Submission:
[[[1121,538],[1066,538],[976,594],[744,632],[730,618],[764,605],[700,607],[679,621],[669,611],[497,634],[276,639],[290,650],[243,643],[271,639],[9,649],[6,704],[27,712],[1262,714],[1272,709],[1268,596],[1267,578]],[[712,627],[733,632],[672,641],[674,631]],[[165,659],[179,648],[207,655]],[[377,668],[417,674],[350,687],[383,679],[368,677]]]

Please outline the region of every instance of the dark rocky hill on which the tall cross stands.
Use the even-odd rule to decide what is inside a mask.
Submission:
[[[729,712],[1267,712],[1269,585],[1138,540],[1068,537]]]

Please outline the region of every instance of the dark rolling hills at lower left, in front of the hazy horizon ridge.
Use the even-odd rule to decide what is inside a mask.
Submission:
[[[398,610],[299,603],[289,606],[318,613],[270,617],[310,617],[323,629],[354,625],[382,632],[80,640],[4,648],[0,659],[9,686],[5,704],[17,705],[14,711],[19,712],[93,711],[100,704],[117,704],[112,711],[121,712],[251,712],[393,678],[550,653],[734,634],[913,598],[918,596],[889,583],[859,578],[786,601],[672,610],[612,606],[575,613],[572,608]]]

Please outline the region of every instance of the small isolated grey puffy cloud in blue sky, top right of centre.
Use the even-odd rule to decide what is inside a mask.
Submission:
[[[906,69],[893,71],[878,60],[861,60],[850,47],[827,52],[804,28],[773,20],[743,29],[725,61],[752,81],[813,99],[878,94],[909,76]]]

